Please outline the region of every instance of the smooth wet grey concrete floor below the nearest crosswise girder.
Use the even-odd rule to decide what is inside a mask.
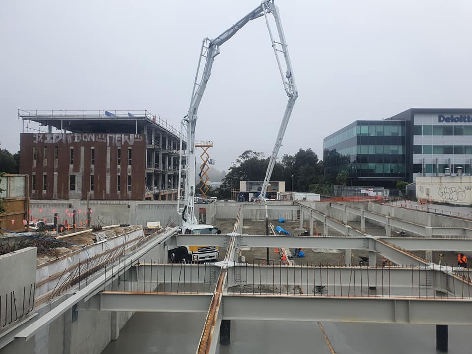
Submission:
[[[102,354],[194,354],[205,314],[136,313]],[[437,354],[435,326],[323,322],[336,354]],[[471,353],[472,326],[449,326],[449,354]],[[232,321],[219,354],[331,354],[317,322]]]

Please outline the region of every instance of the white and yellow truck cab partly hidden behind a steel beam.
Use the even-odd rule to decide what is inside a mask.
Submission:
[[[221,230],[213,225],[195,224],[182,226],[180,233],[186,235],[216,235],[221,234]],[[216,261],[219,255],[218,246],[179,246],[168,250],[169,260],[173,263]]]

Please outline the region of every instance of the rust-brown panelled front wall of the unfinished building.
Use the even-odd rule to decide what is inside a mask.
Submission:
[[[32,197],[53,198],[54,172],[58,173],[57,197],[69,198],[70,148],[74,148],[73,173],[79,173],[83,163],[81,197],[87,197],[90,187],[91,147],[95,147],[93,199],[137,199],[142,200],[146,189],[146,145],[144,134],[34,134],[23,133],[20,137],[20,173],[30,176],[32,191],[33,172],[36,173],[36,191]],[[44,147],[47,147],[47,167],[43,166]],[[54,147],[58,147],[58,166],[55,167]],[[37,149],[36,167],[33,168],[32,148]],[[84,147],[84,161],[81,161],[81,147]],[[110,147],[110,193],[106,193],[107,147]],[[121,148],[121,166],[117,166],[118,147]],[[127,193],[128,147],[132,147],[132,188]],[[42,193],[43,172],[47,174],[47,192]],[[117,175],[121,173],[121,191],[117,191]],[[79,184],[78,177],[76,186]]]

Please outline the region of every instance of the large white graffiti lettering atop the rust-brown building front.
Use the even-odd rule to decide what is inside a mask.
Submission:
[[[33,143],[43,144],[73,144],[85,142],[106,143],[107,146],[121,146],[124,144],[134,145],[135,142],[143,141],[142,134],[95,134],[95,133],[73,133],[73,134],[33,134]]]

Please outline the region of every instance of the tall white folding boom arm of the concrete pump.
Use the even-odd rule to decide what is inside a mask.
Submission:
[[[278,40],[274,40],[272,30],[270,29],[268,14],[274,16],[275,24],[277,27]],[[277,154],[280,147],[282,146],[282,139],[285,134],[285,129],[290,119],[292,109],[295,104],[295,100],[298,97],[298,91],[295,85],[294,74],[292,70],[292,64],[290,63],[289,52],[287,49],[287,44],[285,42],[284,31],[282,29],[282,23],[280,21],[280,15],[277,6],[274,5],[273,0],[263,1],[261,5],[256,7],[236,24],[231,26],[229,29],[221,33],[215,39],[210,40],[205,38],[202,42],[202,49],[200,51],[200,57],[198,60],[197,74],[195,75],[194,86],[192,90],[192,97],[190,100],[190,107],[188,109],[188,114],[182,120],[182,126],[187,130],[187,178],[185,183],[185,205],[183,209],[180,209],[180,201],[178,202],[178,211],[182,215],[183,225],[192,225],[197,224],[197,219],[194,212],[194,196],[195,196],[195,125],[197,122],[197,111],[202,100],[203,93],[207,87],[208,80],[211,74],[211,68],[213,66],[213,61],[215,57],[220,53],[220,45],[229,40],[236,32],[241,29],[249,21],[254,20],[258,17],[264,16],[266,19],[267,29],[269,31],[270,41],[272,48],[277,59],[277,64],[279,67],[280,75],[282,77],[282,83],[284,85],[284,90],[289,97],[287,107],[285,109],[284,117],[282,118],[282,123],[280,125],[279,133],[275,141],[274,149],[272,150],[272,155],[270,156],[269,165],[266,171],[266,177],[264,178],[264,183],[261,190],[261,198],[264,198],[267,186],[269,184],[272,171],[274,169],[275,161],[277,159]],[[283,55],[283,61],[280,59],[280,54]],[[201,74],[199,83],[198,77],[200,72],[201,60],[204,58],[204,66]],[[285,69],[283,68],[283,62],[285,62]],[[181,160],[181,157],[180,157]],[[181,162],[181,161],[180,161]],[[181,180],[181,168],[179,172],[179,181]],[[180,198],[180,183],[178,195]]]

